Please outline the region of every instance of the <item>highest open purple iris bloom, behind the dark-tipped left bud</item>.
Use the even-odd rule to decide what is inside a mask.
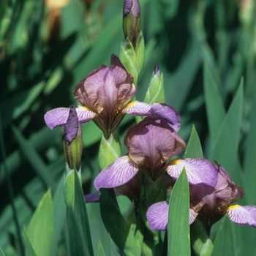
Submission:
[[[93,119],[109,138],[126,113],[147,116],[151,106],[144,102],[128,102],[135,96],[137,86],[132,75],[124,68],[117,56],[111,56],[111,65],[102,65],[92,71],[75,86],[74,97],[80,102],[76,108],[80,124]],[[55,108],[45,114],[45,123],[53,129],[64,126],[69,108]]]

